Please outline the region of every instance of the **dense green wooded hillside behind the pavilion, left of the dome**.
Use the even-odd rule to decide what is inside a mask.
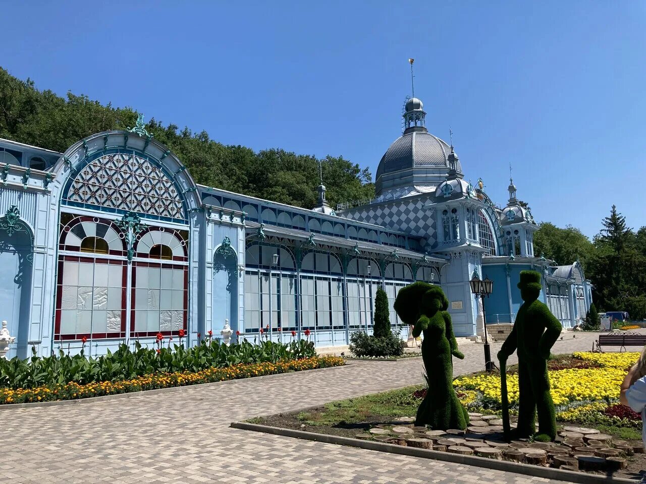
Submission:
[[[136,117],[129,107],[104,106],[71,92],[63,98],[38,90],[34,81],[21,81],[0,68],[0,137],[64,152],[90,134],[134,126]],[[146,128],[182,160],[196,183],[312,208],[317,202],[320,161],[332,207],[374,195],[370,170],[341,156],[319,160],[275,148],[254,152],[245,146],[222,145],[205,131],[180,130],[156,119]]]

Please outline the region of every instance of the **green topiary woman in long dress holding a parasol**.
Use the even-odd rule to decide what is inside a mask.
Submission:
[[[430,425],[435,430],[466,429],[466,408],[453,390],[453,361],[463,359],[453,336],[451,316],[446,312],[448,299],[442,289],[422,281],[402,288],[395,299],[395,311],[413,336],[424,332],[422,359],[428,391],[417,408],[415,425]]]

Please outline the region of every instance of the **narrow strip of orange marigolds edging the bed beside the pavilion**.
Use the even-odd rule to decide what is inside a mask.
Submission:
[[[76,382],[43,385],[36,388],[0,388],[0,405],[98,397],[120,393],[183,387],[198,383],[212,383],[254,376],[314,370],[345,365],[343,358],[322,356],[315,358],[277,361],[276,363],[238,364],[226,368],[207,368],[198,372],[155,373],[119,381],[102,381],[81,385]]]

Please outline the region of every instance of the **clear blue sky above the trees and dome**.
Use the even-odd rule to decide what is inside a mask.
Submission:
[[[3,2],[0,65],[255,150],[375,173],[410,94],[465,176],[592,236],[646,225],[646,3]],[[94,5],[93,5],[94,4]]]

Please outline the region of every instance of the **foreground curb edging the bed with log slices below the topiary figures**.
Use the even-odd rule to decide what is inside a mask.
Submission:
[[[461,454],[451,454],[450,452],[440,452],[439,450],[416,449],[414,447],[405,447],[402,445],[393,445],[377,441],[305,432],[304,430],[269,427],[269,425],[259,425],[257,423],[232,422],[231,427],[233,429],[252,430],[253,432],[264,432],[266,434],[311,440],[334,445],[344,445],[346,447],[359,447],[360,449],[376,450],[377,452],[390,452],[391,454],[399,454],[402,456],[472,465],[474,467],[482,467],[484,469],[502,470],[504,472],[514,472],[515,474],[524,474],[526,476],[555,479],[557,481],[577,484],[635,484],[637,482],[633,479],[615,478],[611,475],[599,476],[596,474],[587,474],[585,472],[574,472],[573,470],[555,469],[553,467],[540,467],[510,461],[499,461],[478,456],[463,456]]]

